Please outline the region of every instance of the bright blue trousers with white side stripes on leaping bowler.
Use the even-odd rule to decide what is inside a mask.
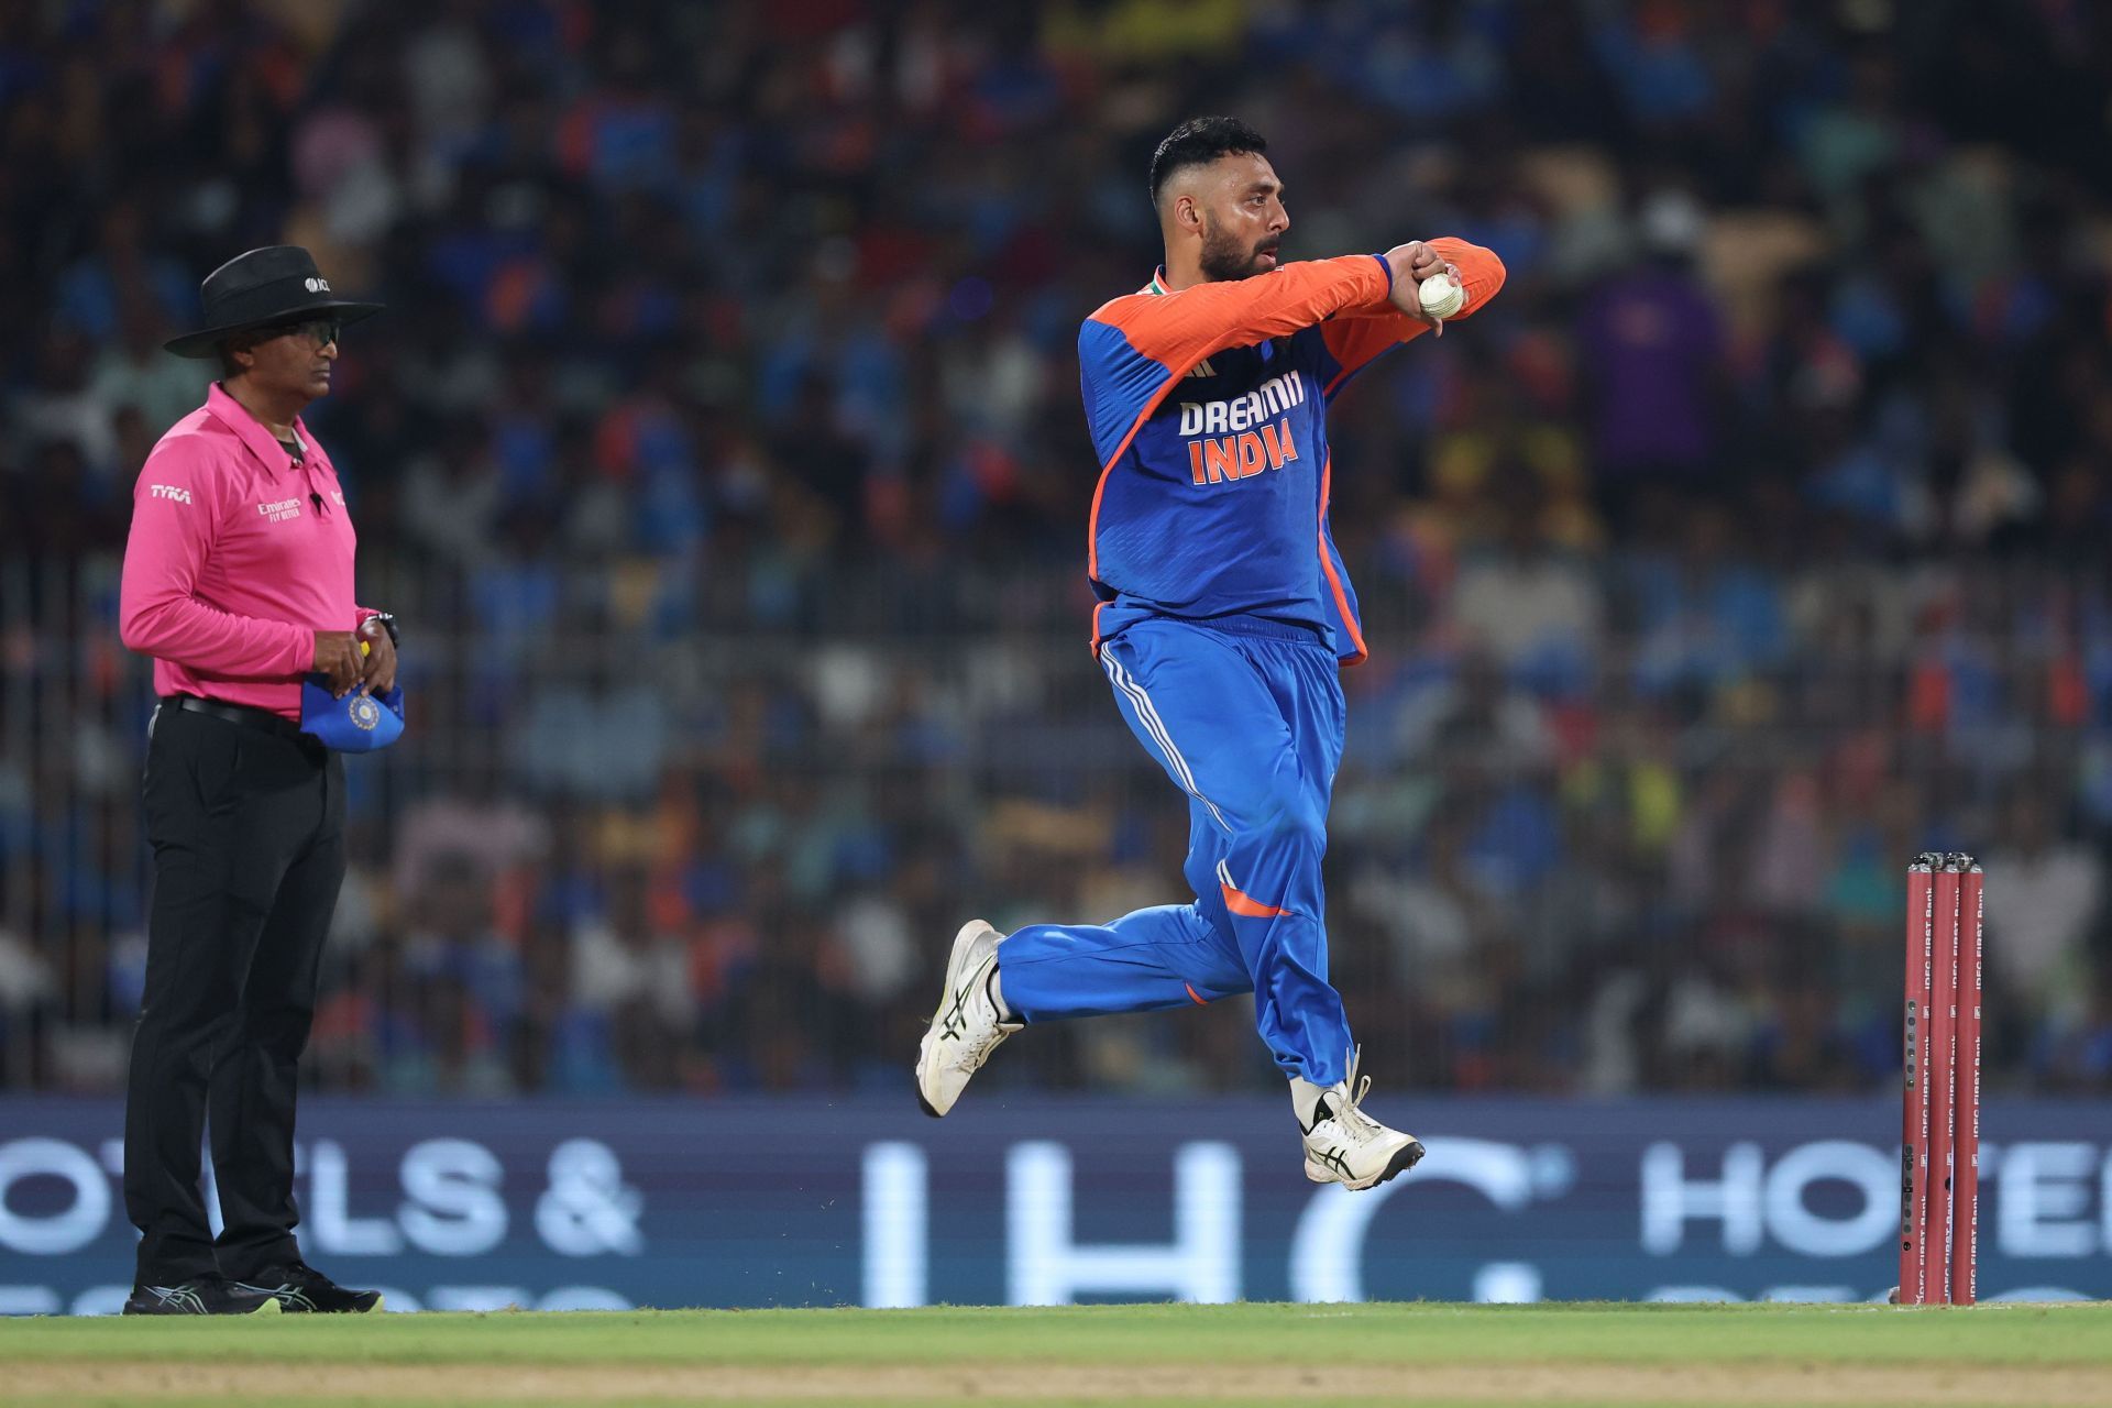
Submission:
[[[1193,903],[1111,925],[1029,925],[997,950],[1024,1022],[1255,994],[1284,1074],[1341,1081],[1350,1022],[1326,977],[1320,857],[1345,707],[1335,652],[1187,621],[1100,646],[1130,732],[1189,796]]]

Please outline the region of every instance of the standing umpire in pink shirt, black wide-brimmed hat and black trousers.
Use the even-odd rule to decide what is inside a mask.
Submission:
[[[127,1315],[376,1311],[300,1258],[296,1066],[344,880],[344,764],[302,732],[329,697],[395,684],[395,623],[353,600],[353,521],[300,412],[329,393],[336,298],[306,249],[251,249],[201,289],[218,357],[205,405],[161,437],[133,492],[120,629],[154,657],[146,994],[125,1096],[125,1210],[139,1226]],[[355,699],[353,703],[363,703]],[[211,1117],[224,1231],[199,1191]]]

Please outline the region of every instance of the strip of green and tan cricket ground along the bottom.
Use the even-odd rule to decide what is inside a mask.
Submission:
[[[2112,1302],[0,1321],[8,1404],[2112,1404]]]

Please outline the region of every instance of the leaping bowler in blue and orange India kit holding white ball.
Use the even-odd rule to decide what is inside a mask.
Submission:
[[[1187,794],[1195,897],[1109,925],[965,925],[917,1091],[946,1115],[1022,1026],[1252,992],[1305,1176],[1371,1188],[1423,1146],[1360,1108],[1371,1081],[1328,984],[1339,669],[1366,652],[1328,532],[1326,407],[1381,353],[1478,312],[1504,264],[1457,239],[1284,264],[1284,186],[1236,118],[1176,127],[1151,201],[1166,264],[1077,340],[1100,458],[1086,572],[1115,707]]]

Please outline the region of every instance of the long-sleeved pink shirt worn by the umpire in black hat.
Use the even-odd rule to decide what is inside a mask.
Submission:
[[[353,631],[359,536],[329,456],[294,420],[285,452],[215,382],[146,456],[133,488],[118,631],[154,657],[156,695],[199,695],[300,720],[315,631]]]

